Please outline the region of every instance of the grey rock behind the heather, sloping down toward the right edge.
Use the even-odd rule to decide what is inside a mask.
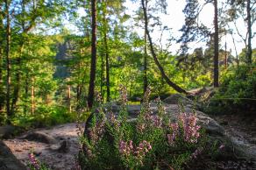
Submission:
[[[227,150],[237,158],[256,158],[256,152],[253,152],[250,146],[241,143],[240,141],[236,140],[236,138],[232,137],[230,134],[224,131],[224,127],[218,124],[217,121],[215,121],[209,115],[204,114],[202,111],[195,110],[195,103],[185,96],[172,95],[167,97],[163,103],[166,107],[167,114],[172,120],[177,119],[179,114],[183,111],[186,113],[195,113],[199,124],[201,124],[206,132],[210,135],[212,143],[218,141],[219,143],[224,144]],[[180,103],[183,106],[182,109],[179,106]],[[120,106],[117,103],[112,103],[108,108],[117,115]],[[136,120],[140,109],[140,105],[127,106],[130,122],[134,122]],[[156,104],[151,104],[151,110],[153,114],[157,113]]]

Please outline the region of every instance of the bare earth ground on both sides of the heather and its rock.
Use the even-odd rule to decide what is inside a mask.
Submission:
[[[225,131],[229,133],[232,138],[251,147],[252,151],[256,152],[256,120],[254,117],[224,115],[215,116],[214,118],[219,124],[224,126]],[[28,162],[28,153],[33,151],[41,162],[46,163],[47,166],[53,169],[76,169],[75,155],[79,152],[80,145],[78,143],[75,123],[61,124],[53,126],[52,128],[36,129],[33,131],[46,133],[58,139],[59,143],[61,141],[68,141],[68,152],[60,152],[54,149],[54,147],[58,147],[56,145],[20,138],[4,140],[4,143],[11,148],[13,154],[24,164]],[[29,132],[25,132],[25,134],[28,133]],[[255,163],[256,160],[252,161]],[[219,160],[214,164],[217,166],[217,169],[256,169],[256,166],[252,165],[250,162],[248,163],[248,161],[235,162]]]

